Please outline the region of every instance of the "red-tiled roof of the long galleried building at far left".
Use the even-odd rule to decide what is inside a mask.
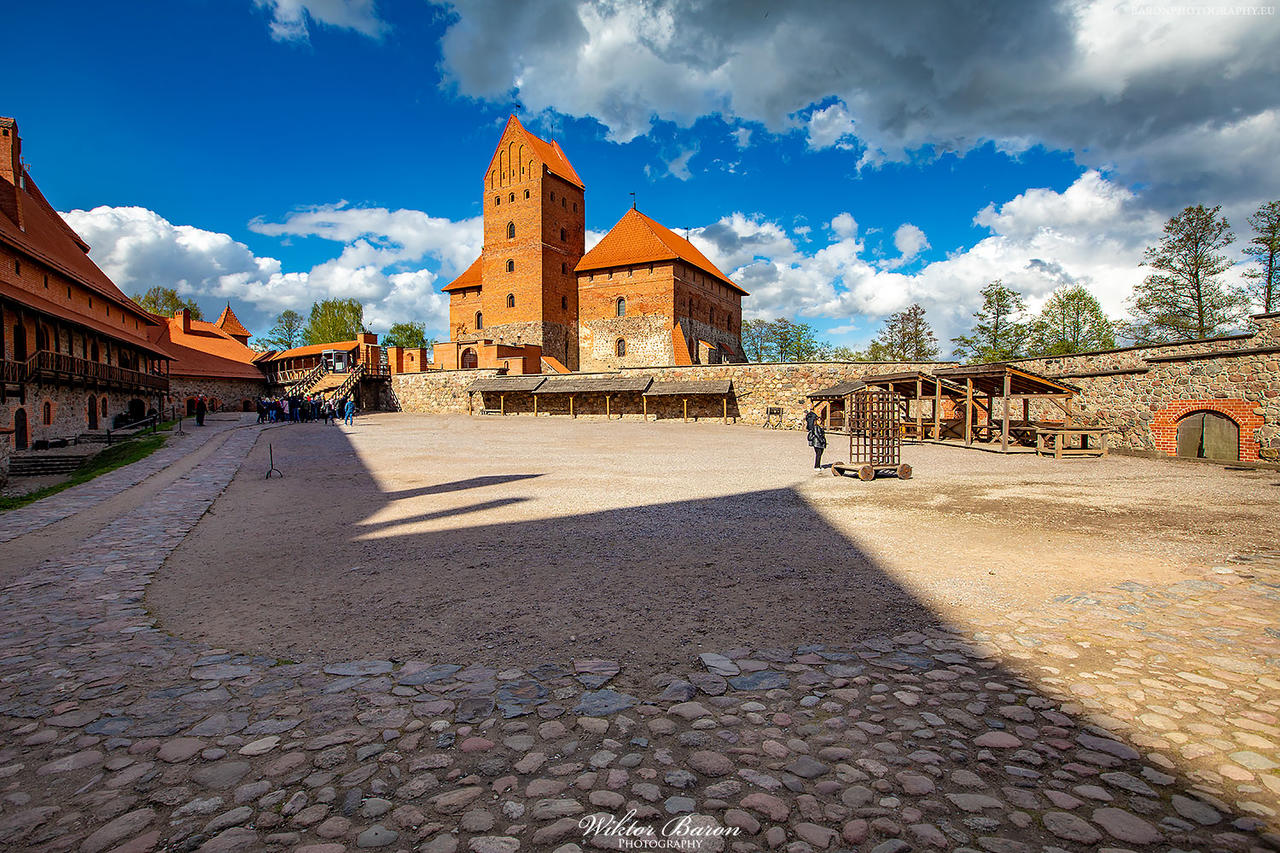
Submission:
[[[0,118],[0,126],[13,133],[14,142],[18,143],[18,127],[14,120]],[[20,167],[19,170],[18,186],[0,178],[0,243],[9,243],[19,252],[56,269],[63,275],[114,304],[122,311],[142,320],[145,325],[141,329],[134,329],[132,323],[128,327],[104,323],[92,315],[83,314],[79,309],[47,300],[47,306],[41,307],[41,310],[73,323],[90,325],[122,341],[146,345],[150,332],[147,327],[152,327],[156,320],[125,296],[88,259],[88,243],[81,240],[72,231],[72,227],[58,215],[52,205],[45,200],[45,196],[36,187],[36,182],[31,179],[31,173]],[[26,292],[38,296],[31,291]]]

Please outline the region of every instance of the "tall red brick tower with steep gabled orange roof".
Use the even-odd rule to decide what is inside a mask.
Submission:
[[[484,178],[480,314],[467,330],[499,343],[535,343],[577,366],[577,277],[586,240],[584,187],[556,142],[512,115]]]

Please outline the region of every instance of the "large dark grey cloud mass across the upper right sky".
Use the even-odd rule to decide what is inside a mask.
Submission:
[[[435,3],[456,13],[443,68],[462,93],[515,92],[616,141],[721,115],[814,147],[856,137],[864,165],[1042,143],[1166,207],[1280,183],[1271,18],[1126,0]]]

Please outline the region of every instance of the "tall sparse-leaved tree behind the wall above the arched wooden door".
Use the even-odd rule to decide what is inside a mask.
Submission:
[[[1243,318],[1244,291],[1219,279],[1231,268],[1222,250],[1235,240],[1219,210],[1221,205],[1185,207],[1165,223],[1160,245],[1143,252],[1143,264],[1156,273],[1133,291],[1134,319],[1125,337],[1137,343],[1212,338]]]

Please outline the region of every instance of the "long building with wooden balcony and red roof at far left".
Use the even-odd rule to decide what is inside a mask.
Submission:
[[[27,450],[163,407],[161,323],[90,260],[0,118],[0,441]]]

